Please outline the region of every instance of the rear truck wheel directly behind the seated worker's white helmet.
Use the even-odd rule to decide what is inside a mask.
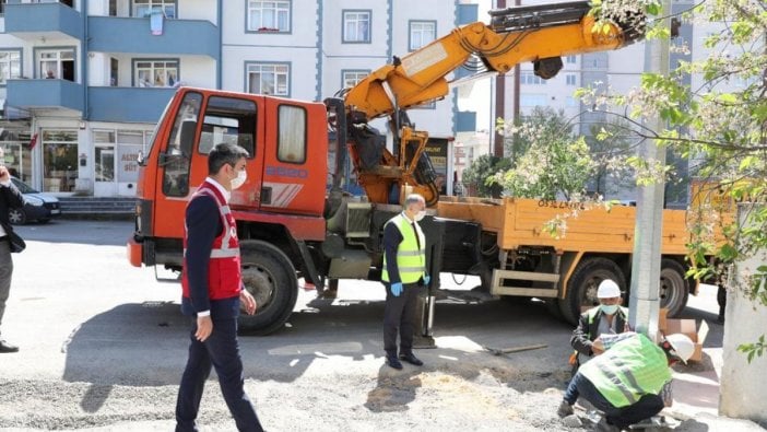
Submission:
[[[583,306],[599,305],[597,289],[605,279],[614,280],[621,287],[621,291],[626,290],[626,279],[623,271],[612,260],[586,258],[578,264],[567,283],[567,296],[559,301],[559,308],[565,320],[575,326],[578,324],[578,317]]]

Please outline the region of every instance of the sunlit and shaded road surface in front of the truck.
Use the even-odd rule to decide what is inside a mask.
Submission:
[[[173,398],[186,361],[188,322],[179,313],[178,283],[160,282],[153,269],[128,264],[123,245],[132,223],[58,220],[21,226],[17,232],[27,241],[27,249],[14,256],[11,299],[2,329],[3,337],[19,345],[21,352],[0,359],[0,393],[5,393],[0,396],[0,428],[109,428],[125,421],[165,421],[164,428],[172,425]],[[442,275],[441,282],[445,288],[467,290],[475,280],[458,285],[450,275]],[[420,408],[418,404],[425,402],[418,399],[428,394],[432,384],[435,388],[455,385],[464,390],[465,386],[495,388],[497,384],[500,389],[492,389],[493,395],[500,390],[506,395],[509,389],[514,390],[511,396],[515,392],[535,395],[521,405],[515,402],[519,405],[516,408],[529,405],[530,410],[545,411],[546,417],[541,420],[543,415],[538,413],[527,418],[518,411],[511,416],[498,408],[498,419],[491,416],[487,429],[515,429],[519,424],[523,425],[520,430],[559,429],[553,412],[558,392],[569,376],[566,361],[571,327],[548,316],[541,303],[441,300],[434,328],[437,349],[418,352],[426,362],[424,370],[406,369],[404,375],[398,375],[382,365],[382,299],[380,284],[364,281],[342,282],[335,301],[317,300],[314,292],[302,292],[284,329],[268,337],[240,338],[247,388],[257,406],[263,407],[266,424],[276,430],[303,430],[306,423],[302,421],[311,424],[311,419],[319,416],[328,430],[379,429],[393,421],[376,416],[380,412],[427,412],[428,407]],[[711,325],[707,351],[719,349],[722,332],[715,324],[716,290],[705,290],[691,305],[686,317],[703,318]],[[483,349],[539,343],[546,348],[500,357]],[[710,361],[704,362],[699,371],[710,366]],[[414,374],[422,371],[439,380],[458,377],[461,383],[438,380],[429,384],[415,375],[420,381],[413,385]],[[487,385],[488,380],[495,384]],[[14,383],[26,396],[8,395],[7,388]],[[349,388],[344,389],[346,384]],[[399,393],[392,394],[392,386]],[[217,393],[213,383],[209,388],[214,390],[205,397]],[[50,406],[28,407],[45,399],[43,395],[57,392],[66,395],[50,396],[56,400]],[[153,402],[153,397],[157,401]],[[224,421],[222,430],[232,428],[226,423],[223,402],[213,400],[219,404],[216,408],[201,417]],[[291,400],[290,407],[285,400]],[[333,408],[339,404],[350,404],[351,418],[339,413],[345,412],[343,406]],[[445,405],[440,409],[456,409],[449,401],[440,404]],[[700,404],[695,404],[697,410]],[[281,413],[272,412],[276,407]],[[707,412],[716,413],[716,400],[709,408]],[[440,423],[429,418],[433,416],[405,416],[398,417],[399,423],[393,424],[432,429],[460,425],[461,417],[465,421],[473,421],[472,416],[488,418],[476,412],[456,416],[459,423]]]

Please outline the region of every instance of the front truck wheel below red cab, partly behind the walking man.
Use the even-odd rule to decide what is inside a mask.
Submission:
[[[245,241],[239,248],[243,283],[257,304],[255,315],[239,315],[239,329],[248,335],[268,335],[282,328],[296,305],[296,269],[282,250],[269,243]]]

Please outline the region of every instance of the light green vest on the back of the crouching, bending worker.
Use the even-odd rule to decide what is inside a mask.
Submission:
[[[579,373],[617,408],[634,405],[644,395],[660,394],[671,380],[663,350],[639,334],[591,359]]]

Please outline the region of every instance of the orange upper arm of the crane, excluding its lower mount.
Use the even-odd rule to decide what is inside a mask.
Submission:
[[[548,79],[558,72],[556,65],[552,70],[545,62],[548,59],[560,65],[562,56],[617,49],[641,36],[628,24],[609,24],[597,32],[589,10],[589,2],[577,1],[493,11],[491,25],[475,22],[458,27],[371,72],[349,91],[345,105],[369,120],[442,98],[449,92],[446,75],[472,55],[498,73],[520,62],[544,61],[539,74]]]

